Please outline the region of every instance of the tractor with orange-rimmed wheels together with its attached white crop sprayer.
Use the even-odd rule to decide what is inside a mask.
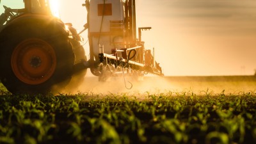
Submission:
[[[87,69],[106,81],[114,76],[163,76],[136,31],[135,0],[86,0],[87,23],[78,32],[54,17],[51,0],[23,0],[0,16],[0,79],[11,93],[58,92],[81,82]],[[65,3],[65,2],[62,2]],[[89,58],[81,44],[88,31]],[[153,52],[154,53],[154,52]]]

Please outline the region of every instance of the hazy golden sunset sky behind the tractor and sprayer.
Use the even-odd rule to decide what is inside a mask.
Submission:
[[[17,6],[17,1],[21,0],[1,0],[1,7]],[[83,29],[84,0],[60,2],[63,22]],[[155,48],[165,76],[255,73],[256,1],[136,0],[136,19],[137,28],[152,27],[142,32],[142,40],[147,49]]]

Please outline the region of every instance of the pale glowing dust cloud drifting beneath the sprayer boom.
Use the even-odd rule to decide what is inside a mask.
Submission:
[[[125,86],[126,85],[126,86]],[[132,87],[132,88],[131,88]],[[129,89],[131,88],[131,90]],[[83,83],[67,93],[161,93],[173,90],[175,86],[164,79],[164,77],[143,77],[143,81],[134,77],[109,77],[108,81],[99,81],[98,77],[84,77]]]

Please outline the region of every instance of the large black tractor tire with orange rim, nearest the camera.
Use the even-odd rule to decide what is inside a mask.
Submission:
[[[58,92],[70,81],[72,45],[56,20],[25,19],[0,33],[1,82],[12,93]]]

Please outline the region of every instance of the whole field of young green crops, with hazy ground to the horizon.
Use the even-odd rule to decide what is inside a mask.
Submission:
[[[132,91],[88,79],[57,95],[0,84],[0,143],[256,143],[254,76],[150,77]]]

